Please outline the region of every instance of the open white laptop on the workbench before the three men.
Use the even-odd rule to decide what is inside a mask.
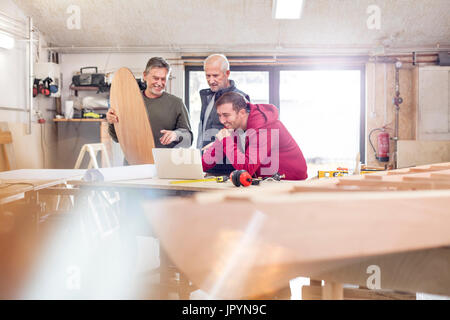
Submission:
[[[160,179],[203,179],[199,149],[153,148],[156,175]]]

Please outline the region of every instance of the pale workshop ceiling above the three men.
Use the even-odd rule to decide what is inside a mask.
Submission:
[[[174,51],[450,46],[450,0],[305,0],[300,20],[272,19],[272,0],[15,0],[53,47]],[[70,30],[71,5],[80,29]],[[369,29],[368,7],[380,8]]]

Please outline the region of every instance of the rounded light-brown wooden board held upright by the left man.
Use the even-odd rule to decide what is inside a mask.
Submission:
[[[128,163],[154,163],[152,149],[155,145],[147,110],[136,79],[129,69],[120,68],[114,74],[110,102],[119,118],[114,128]]]

